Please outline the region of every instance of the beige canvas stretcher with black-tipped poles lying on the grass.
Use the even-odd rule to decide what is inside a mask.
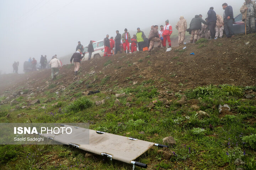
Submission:
[[[39,135],[64,145],[70,145],[84,151],[105,156],[110,158],[110,160],[115,159],[132,164],[133,169],[135,169],[135,166],[147,168],[147,164],[136,162],[134,160],[148,151],[151,147],[168,147],[153,142],[138,140],[132,137],[119,136],[90,129],[88,136],[88,129],[63,124],[61,126],[70,127],[72,129],[72,133],[67,134],[69,132],[66,132],[63,134]],[[85,144],[84,141],[88,140],[88,137],[89,144]]]

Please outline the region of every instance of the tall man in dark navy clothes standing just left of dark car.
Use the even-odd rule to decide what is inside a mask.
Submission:
[[[228,6],[227,3],[222,4],[222,8],[224,10],[223,18],[224,18],[224,30],[227,38],[234,37],[234,29],[233,29],[233,8],[232,6]]]

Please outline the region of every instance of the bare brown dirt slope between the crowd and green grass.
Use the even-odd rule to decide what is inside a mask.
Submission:
[[[250,43],[246,45],[246,42]],[[168,86],[174,90],[209,84],[253,86],[256,75],[255,45],[256,36],[250,34],[186,44],[174,47],[170,52],[156,48],[151,53],[122,53],[83,61],[76,77],[74,66],[65,65],[60,69],[60,78],[54,81],[50,79],[50,70],[0,75],[0,94],[17,87],[42,89],[47,85],[46,81],[57,84],[54,88],[58,89],[59,84],[66,87],[80,79],[83,80],[82,88],[86,90],[105,89],[113,85],[124,87],[134,81],[142,83],[146,80],[154,81],[159,88]],[[190,55],[192,52],[195,55]],[[95,73],[89,75],[91,71]]]

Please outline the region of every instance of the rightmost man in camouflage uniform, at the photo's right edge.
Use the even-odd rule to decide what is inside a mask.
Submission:
[[[246,23],[246,33],[255,33],[255,1],[245,0],[244,5],[240,8],[242,13],[242,21]]]

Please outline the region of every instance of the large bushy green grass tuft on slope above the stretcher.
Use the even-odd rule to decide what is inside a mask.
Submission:
[[[79,97],[74,102],[70,103],[70,105],[66,107],[66,110],[80,112],[91,106],[92,106],[92,102],[87,97],[82,96],[82,97]]]

